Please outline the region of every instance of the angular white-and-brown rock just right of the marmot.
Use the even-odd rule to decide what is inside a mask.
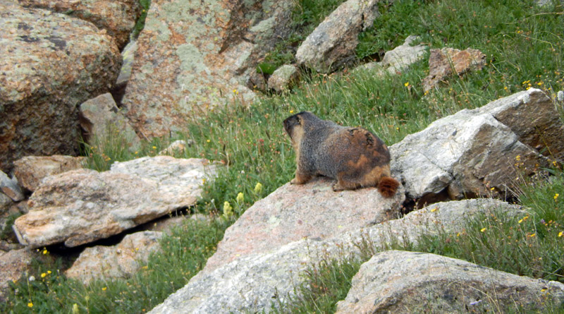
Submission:
[[[525,174],[532,174],[537,165],[546,165],[547,161],[520,141],[520,136],[512,130],[516,126],[505,126],[492,114],[501,116],[496,114],[498,109],[509,112],[503,108],[519,111],[523,116],[521,123],[527,129],[542,132],[546,124],[537,126],[535,121],[550,119],[538,116],[532,119],[540,110],[529,109],[546,106],[538,92],[530,89],[498,99],[484,109],[465,109],[434,121],[423,131],[407,135],[390,147],[393,176],[401,179],[410,198],[422,198],[421,203],[435,198],[509,193],[518,167]]]

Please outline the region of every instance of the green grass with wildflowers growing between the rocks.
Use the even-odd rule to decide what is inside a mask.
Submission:
[[[340,2],[300,1],[294,23],[302,30],[281,45],[281,51],[295,49],[296,43]],[[202,267],[229,224],[255,201],[292,179],[295,155],[282,128],[283,119],[291,114],[308,110],[343,125],[363,126],[391,145],[431,121],[528,87],[539,87],[551,97],[557,90],[564,90],[562,5],[537,8],[532,1],[398,0],[393,6],[382,4],[380,10],[382,16],[373,30],[360,35],[359,59],[391,49],[408,35],[420,35],[420,41],[431,48],[480,49],[488,56],[488,64],[482,71],[448,79],[427,95],[421,83],[429,71],[427,61],[384,78],[367,71],[314,74],[287,95],[265,96],[252,104],[244,104],[233,95],[228,107],[187,121],[187,134],[154,139],[142,143],[136,151],[111,132],[112,136],[92,146],[83,145],[83,155],[90,157],[88,167],[104,171],[115,161],[156,155],[171,140],[194,140],[176,157],[204,157],[224,167],[217,179],[204,184],[202,200],[191,211],[221,217],[228,202],[233,215],[176,231],[165,240],[163,253],[149,261],[147,270],[127,280],[84,286],[59,274],[63,267],[60,263],[44,260],[35,266],[35,282],[23,278],[16,283],[13,287],[18,294],[0,304],[0,312],[28,313],[31,309],[42,313],[62,308],[61,312],[70,313],[76,303],[80,313],[142,313],[160,303]],[[278,64],[293,58],[291,53],[283,54],[273,52],[267,61]],[[524,184],[519,201],[534,213],[523,217],[521,223],[494,213],[467,222],[468,227],[458,236],[422,236],[418,244],[396,243],[393,248],[440,253],[489,267],[500,265],[501,270],[516,274],[561,281],[564,236],[558,235],[564,230],[564,181],[560,170],[553,170],[553,174],[548,183]],[[257,183],[262,184],[260,191],[255,189]],[[243,193],[243,200],[236,200],[238,193]],[[559,196],[555,200],[556,193]],[[365,246],[364,258],[377,249],[385,248]],[[360,262],[326,260],[312,265],[306,284],[297,288],[304,298],[278,304],[279,311],[331,313],[348,292],[350,278]],[[48,270],[51,274],[40,277]],[[30,301],[33,308],[27,307]]]

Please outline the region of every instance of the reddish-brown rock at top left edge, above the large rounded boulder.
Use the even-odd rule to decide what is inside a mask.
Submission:
[[[138,0],[18,0],[25,7],[44,8],[92,22],[125,47],[142,7]]]

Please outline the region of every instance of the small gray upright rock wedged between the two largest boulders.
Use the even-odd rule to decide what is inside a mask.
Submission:
[[[96,140],[119,134],[125,139],[125,143],[130,145],[131,150],[139,147],[140,138],[121,114],[110,93],[83,102],[79,114],[84,140],[90,145],[97,145]]]

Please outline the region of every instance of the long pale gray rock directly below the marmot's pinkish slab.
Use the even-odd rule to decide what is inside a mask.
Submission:
[[[458,230],[465,219],[477,213],[500,210],[522,215],[519,208],[488,199],[439,203],[411,212],[402,219],[346,232],[326,240],[303,238],[266,253],[242,255],[231,262],[224,261],[211,271],[206,265],[186,286],[166,298],[150,313],[269,312],[276,298],[284,301],[295,294],[295,287],[304,280],[302,272],[309,265],[321,259],[357,255],[357,245],[362,241],[383,243],[392,238],[395,241],[405,238],[416,241],[420,232],[436,232],[439,226],[447,232]],[[270,215],[283,211],[281,207]],[[263,222],[268,220],[269,215],[264,215]]]

